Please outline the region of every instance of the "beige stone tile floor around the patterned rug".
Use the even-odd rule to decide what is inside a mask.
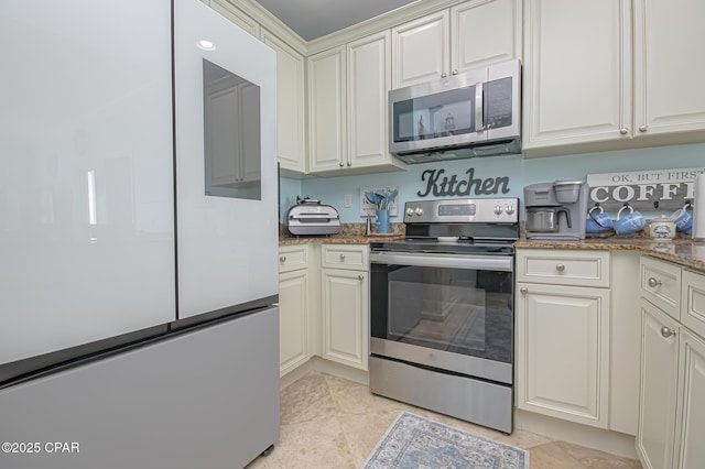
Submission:
[[[639,461],[524,430],[503,435],[370,394],[368,388],[312,372],[281,393],[281,435],[274,451],[247,469],[359,468],[399,412],[408,411],[529,450],[531,469],[641,468]]]

